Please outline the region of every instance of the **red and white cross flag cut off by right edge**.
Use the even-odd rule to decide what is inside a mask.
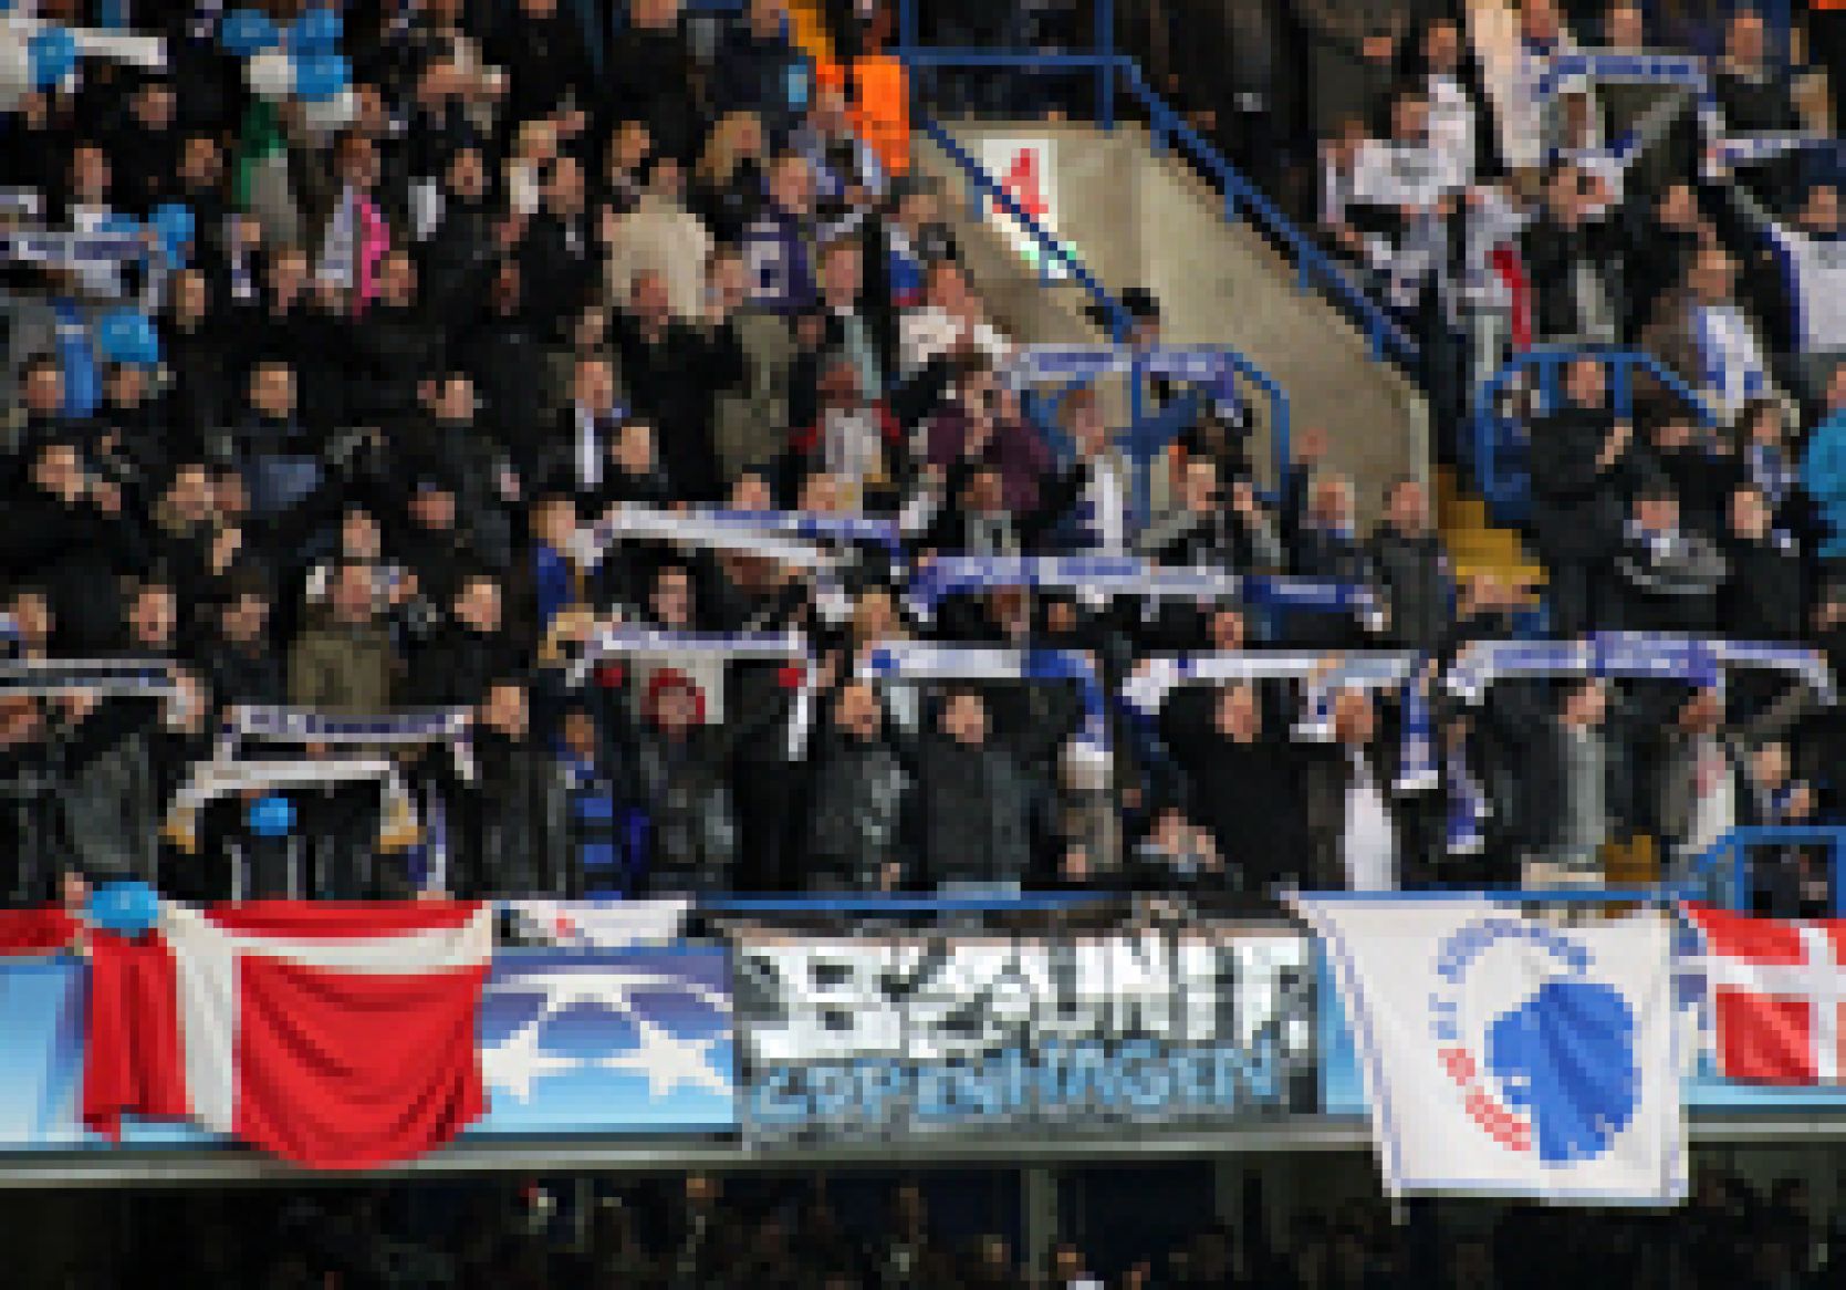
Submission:
[[[1685,917],[1706,941],[1719,1072],[1752,1083],[1837,1083],[1846,923],[1754,919],[1706,904],[1687,904]]]

